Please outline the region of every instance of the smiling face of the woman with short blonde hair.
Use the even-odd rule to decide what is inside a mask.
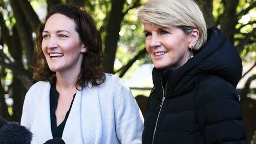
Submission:
[[[185,34],[178,27],[160,28],[144,23],[146,51],[156,68],[180,67],[190,58],[193,33]]]

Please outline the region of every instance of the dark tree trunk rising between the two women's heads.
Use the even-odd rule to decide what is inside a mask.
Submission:
[[[119,39],[119,31],[121,21],[123,19],[123,4],[124,0],[113,0],[110,12],[109,25],[106,28],[107,34],[105,37],[104,61],[103,67],[106,73],[114,74],[114,62],[117,50],[117,42]]]

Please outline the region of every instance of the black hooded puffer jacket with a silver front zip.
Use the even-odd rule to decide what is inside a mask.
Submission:
[[[206,45],[183,66],[153,69],[142,143],[246,143],[241,75],[236,49],[218,28],[208,29]]]

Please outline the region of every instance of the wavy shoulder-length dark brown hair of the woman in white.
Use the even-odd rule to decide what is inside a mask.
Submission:
[[[66,15],[74,20],[76,24],[75,30],[79,34],[80,40],[87,47],[87,52],[83,54],[81,71],[77,78],[76,87],[86,87],[89,82],[91,82],[92,87],[102,84],[105,80],[102,69],[102,40],[95,21],[86,10],[72,4],[59,4],[52,7],[45,21],[56,13]],[[37,81],[49,81],[51,84],[55,84],[55,72],[50,70],[41,49],[42,31],[44,28],[45,23],[42,23],[37,30],[34,55],[36,58],[36,66],[33,67],[33,79]]]

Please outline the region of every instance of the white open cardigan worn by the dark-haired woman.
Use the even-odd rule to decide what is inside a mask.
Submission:
[[[73,143],[141,143],[143,117],[124,82],[111,74],[100,86],[77,91],[62,139]],[[33,133],[31,143],[53,138],[50,83],[37,82],[27,92],[21,125]]]

